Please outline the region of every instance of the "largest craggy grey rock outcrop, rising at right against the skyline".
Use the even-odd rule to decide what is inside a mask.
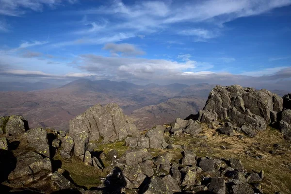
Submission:
[[[274,120],[271,114],[282,109],[283,99],[268,90],[243,88],[239,85],[216,86],[210,92],[203,111],[199,112],[198,119],[206,122],[218,118],[230,120],[238,127],[248,125],[252,130],[264,130]],[[213,116],[216,118],[213,119]]]

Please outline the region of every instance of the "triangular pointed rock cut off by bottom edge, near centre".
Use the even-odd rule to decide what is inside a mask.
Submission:
[[[158,177],[152,177],[146,186],[144,194],[173,194],[163,181]]]

